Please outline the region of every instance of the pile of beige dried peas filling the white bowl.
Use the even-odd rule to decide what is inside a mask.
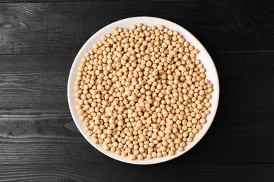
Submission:
[[[178,31],[116,27],[81,58],[74,97],[94,144],[131,160],[184,151],[209,114],[213,85]]]

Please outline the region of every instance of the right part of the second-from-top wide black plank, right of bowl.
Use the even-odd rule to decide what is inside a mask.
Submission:
[[[211,54],[220,82],[220,105],[273,106],[273,52]]]

